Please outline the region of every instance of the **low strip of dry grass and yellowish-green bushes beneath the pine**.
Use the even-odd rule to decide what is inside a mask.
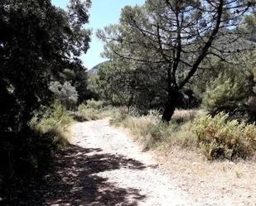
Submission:
[[[179,146],[199,151],[208,160],[254,156],[256,126],[229,121],[228,117],[225,113],[210,117],[200,110],[178,110],[167,124],[156,112],[137,117],[121,110],[110,122],[128,128],[135,139],[142,142],[145,150],[169,150],[171,146]]]

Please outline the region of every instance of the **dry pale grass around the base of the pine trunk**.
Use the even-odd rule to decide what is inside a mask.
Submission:
[[[190,125],[192,116],[196,115],[195,113],[185,110],[178,112],[175,117],[179,121],[174,120],[169,125],[162,122],[160,114],[154,111],[142,117],[134,117],[121,112],[111,122],[116,126],[128,128],[135,139],[142,142],[145,150],[159,146],[164,146],[167,149],[171,146],[194,149],[197,141],[195,135],[190,131]]]

